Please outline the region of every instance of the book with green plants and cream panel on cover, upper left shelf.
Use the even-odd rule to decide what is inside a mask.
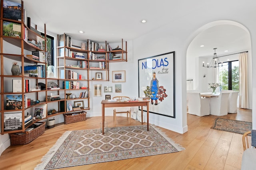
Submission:
[[[21,25],[12,22],[3,22],[3,35],[8,37],[21,38]]]

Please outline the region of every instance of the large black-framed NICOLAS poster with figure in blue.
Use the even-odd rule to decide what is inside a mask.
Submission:
[[[139,97],[150,98],[149,112],[175,118],[175,51],[139,59],[138,74]]]

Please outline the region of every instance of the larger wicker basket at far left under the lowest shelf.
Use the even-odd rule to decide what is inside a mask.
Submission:
[[[28,131],[22,135],[17,135],[16,133],[10,133],[11,145],[24,145],[30,143],[45,131],[45,122],[42,122],[42,125],[39,125],[32,131]]]

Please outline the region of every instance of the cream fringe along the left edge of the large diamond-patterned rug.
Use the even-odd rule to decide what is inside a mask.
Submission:
[[[43,158],[41,159],[42,163],[38,164],[36,168],[34,168],[34,170],[42,170],[46,167],[46,165],[48,164],[46,160],[48,160],[49,157],[51,158],[55,154],[55,152],[59,149],[60,145],[65,141],[65,139],[71,132],[72,131],[66,131],[63,133],[63,135],[57,140],[53,147],[51,147],[51,149],[47,152],[47,154],[43,156]]]

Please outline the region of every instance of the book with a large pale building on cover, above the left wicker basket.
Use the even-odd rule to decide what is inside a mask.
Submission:
[[[22,113],[4,113],[4,131],[22,129]]]

